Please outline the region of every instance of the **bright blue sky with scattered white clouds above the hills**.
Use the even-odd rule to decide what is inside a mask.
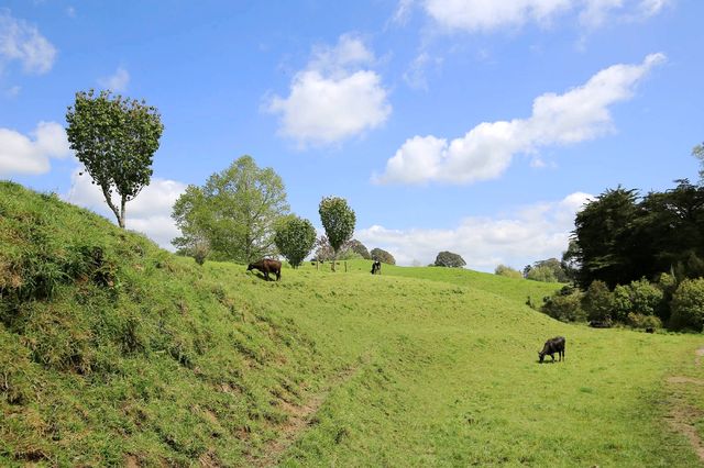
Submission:
[[[110,89],[165,130],[128,229],[165,248],[172,205],[242,155],[322,232],[399,265],[441,250],[516,269],[566,249],[619,185],[697,179],[704,1],[0,0],[0,179],[113,219],[66,140],[75,93]]]

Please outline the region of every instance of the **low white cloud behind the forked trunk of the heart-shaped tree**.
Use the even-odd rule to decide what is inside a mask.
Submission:
[[[170,218],[172,208],[185,190],[186,185],[176,180],[152,178],[152,182],[127,205],[128,229],[141,232],[161,247],[173,250],[170,242],[180,235],[180,231]],[[76,169],[72,175],[72,188],[64,199],[114,222],[114,215],[108,208],[102,191],[81,169]],[[114,201],[118,201],[117,198]]]

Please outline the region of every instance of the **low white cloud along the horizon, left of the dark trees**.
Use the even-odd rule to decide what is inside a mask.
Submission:
[[[560,258],[574,230],[574,215],[593,197],[575,192],[557,202],[522,207],[506,216],[470,216],[453,230],[407,231],[372,226],[354,237],[370,249],[388,250],[399,265],[428,265],[439,252],[460,254],[468,268],[493,272],[497,265],[514,268]]]

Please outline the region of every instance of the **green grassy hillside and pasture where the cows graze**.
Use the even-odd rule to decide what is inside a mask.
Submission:
[[[265,282],[7,182],[0,246],[0,465],[697,463],[664,421],[701,421],[703,339],[556,322],[525,305],[550,286],[366,263]],[[566,363],[538,365],[557,334]]]

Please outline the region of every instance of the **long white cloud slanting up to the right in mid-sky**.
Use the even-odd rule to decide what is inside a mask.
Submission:
[[[631,98],[638,81],[664,59],[662,54],[651,54],[640,65],[619,64],[601,70],[563,94],[542,94],[535,99],[528,119],[483,122],[452,141],[414,136],[388,159],[385,174],[372,179],[380,183],[494,179],[518,153],[595,138],[613,130],[608,108]]]

